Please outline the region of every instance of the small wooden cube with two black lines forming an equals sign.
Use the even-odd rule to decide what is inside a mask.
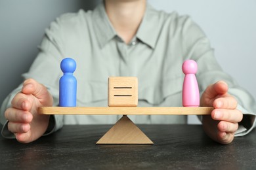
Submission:
[[[116,76],[108,78],[109,107],[137,107],[138,78]]]

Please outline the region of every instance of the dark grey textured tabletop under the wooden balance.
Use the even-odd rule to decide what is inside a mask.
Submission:
[[[228,145],[199,125],[139,125],[153,145],[96,145],[111,126],[64,126],[30,144],[0,138],[0,169],[256,169],[256,131]]]

